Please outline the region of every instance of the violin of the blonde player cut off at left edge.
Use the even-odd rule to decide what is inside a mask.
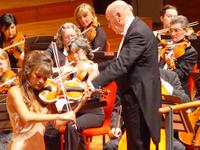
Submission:
[[[16,84],[16,74],[12,70],[7,70],[0,77],[0,94],[7,94],[8,90]]]

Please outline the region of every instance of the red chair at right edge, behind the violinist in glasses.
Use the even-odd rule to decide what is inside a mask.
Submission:
[[[192,68],[192,71],[191,71],[189,77],[188,77],[189,93],[190,93],[190,97],[191,97],[192,100],[195,97],[195,93],[196,93],[195,92],[195,81],[196,81],[196,79],[194,79],[191,74],[197,73],[197,72],[199,72],[199,71],[198,71],[198,68],[197,68],[197,64],[195,64],[194,67]]]

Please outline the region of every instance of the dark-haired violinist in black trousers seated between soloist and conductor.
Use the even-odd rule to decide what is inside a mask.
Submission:
[[[84,86],[90,84],[89,80],[93,79],[96,75],[96,65],[90,60],[92,55],[92,49],[86,39],[79,37],[74,38],[68,45],[70,61],[76,68],[77,73],[74,77],[82,78],[79,73],[87,72],[83,81],[86,81]],[[88,68],[85,70],[84,68]],[[95,69],[96,68],[96,69]],[[93,70],[94,69],[94,70]],[[81,79],[80,79],[81,80]],[[83,83],[83,82],[82,82]],[[102,108],[93,108],[87,110],[81,110],[76,115],[76,127],[73,124],[69,124],[65,131],[65,149],[70,147],[71,149],[77,150],[84,148],[85,144],[80,136],[80,132],[86,128],[99,127],[104,121],[104,111]],[[88,121],[90,119],[91,121]],[[68,139],[68,137],[70,137]],[[60,144],[60,133],[58,130],[51,126],[48,126],[45,132],[45,143],[47,150],[59,149]]]

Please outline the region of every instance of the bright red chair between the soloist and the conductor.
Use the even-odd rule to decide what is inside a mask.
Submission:
[[[102,135],[102,144],[105,144],[105,135],[109,133],[110,131],[110,123],[111,123],[111,114],[114,107],[114,102],[116,98],[116,91],[117,91],[117,85],[113,81],[109,85],[105,87],[105,89],[110,91],[110,94],[106,96],[106,98],[102,98],[102,100],[107,101],[107,105],[104,106],[104,113],[105,113],[105,119],[103,122],[103,125],[101,127],[97,128],[88,128],[85,129],[81,135],[84,137],[84,141],[86,144],[86,150],[90,149],[90,142],[93,136],[99,136]]]

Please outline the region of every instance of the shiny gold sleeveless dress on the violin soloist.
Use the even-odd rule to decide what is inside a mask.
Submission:
[[[9,108],[9,105],[7,105],[7,110],[13,128],[8,150],[45,150],[43,138],[45,125],[36,122],[23,123],[19,114]],[[32,108],[30,111],[34,112]]]

